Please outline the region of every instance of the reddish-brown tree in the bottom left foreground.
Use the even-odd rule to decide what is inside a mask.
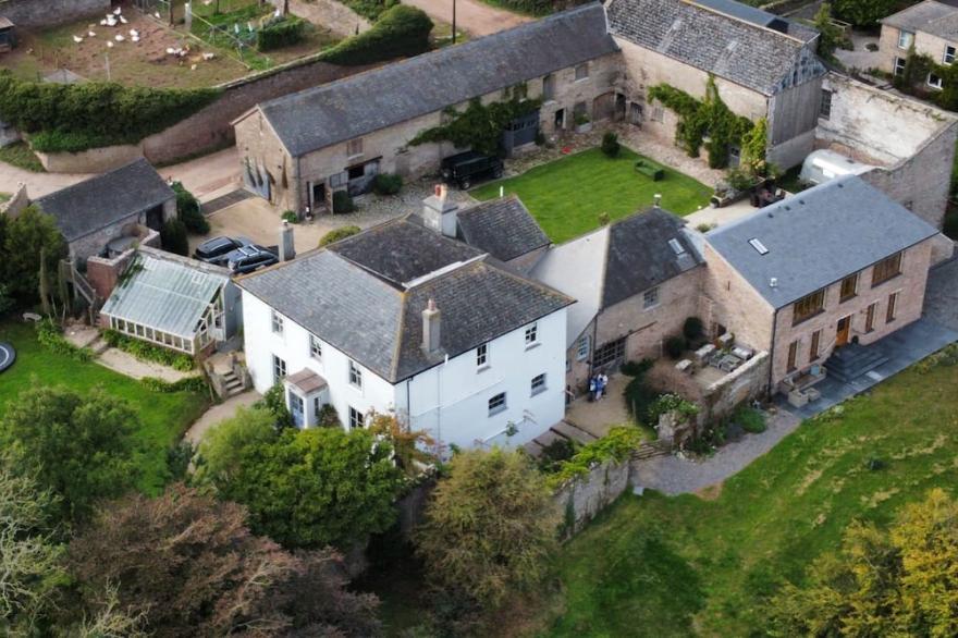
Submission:
[[[113,608],[158,637],[379,633],[376,597],[346,591],[337,554],[291,554],[253,536],[245,517],[182,484],[130,494],[71,542],[69,564],[85,602],[115,586]]]

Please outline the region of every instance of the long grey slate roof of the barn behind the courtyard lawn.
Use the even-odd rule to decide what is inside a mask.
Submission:
[[[617,51],[593,3],[259,106],[293,157]]]

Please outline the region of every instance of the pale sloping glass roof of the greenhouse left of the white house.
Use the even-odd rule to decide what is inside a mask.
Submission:
[[[225,269],[194,268],[139,250],[100,311],[193,339],[217,291],[229,281]]]

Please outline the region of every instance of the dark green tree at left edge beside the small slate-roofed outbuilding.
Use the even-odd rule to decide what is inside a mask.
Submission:
[[[66,257],[66,242],[57,221],[35,206],[24,208],[5,226],[5,232],[0,233],[3,237],[0,274],[13,297],[35,302],[40,290],[40,270],[57,272],[60,260]]]

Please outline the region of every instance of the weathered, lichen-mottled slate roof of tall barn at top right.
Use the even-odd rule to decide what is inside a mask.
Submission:
[[[785,35],[690,0],[612,0],[607,11],[613,35],[763,95],[825,73],[807,29]]]

